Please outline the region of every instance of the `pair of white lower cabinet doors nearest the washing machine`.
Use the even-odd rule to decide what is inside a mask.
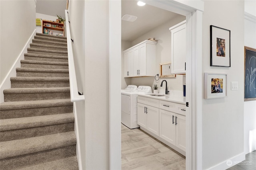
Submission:
[[[137,109],[138,125],[155,135],[159,135],[159,109],[140,103],[138,103]]]

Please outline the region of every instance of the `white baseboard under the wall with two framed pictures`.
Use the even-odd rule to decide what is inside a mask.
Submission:
[[[245,153],[242,152],[232,158],[229,158],[227,160],[224,160],[223,162],[212,166],[210,168],[208,168],[209,170],[226,170],[228,168],[230,168],[231,166],[234,166],[240,162],[242,162],[243,160],[245,160]]]

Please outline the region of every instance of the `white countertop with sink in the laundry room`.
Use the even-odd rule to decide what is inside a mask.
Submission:
[[[153,94],[153,93],[151,93],[151,94]],[[157,95],[157,94],[154,94],[154,95]],[[174,103],[184,104],[184,105],[186,104],[186,97],[170,95],[170,94],[159,94],[159,95],[164,95],[164,96],[151,96],[150,94],[138,94],[138,96],[143,96],[143,97],[147,97],[147,98],[164,100],[167,102],[174,102]]]

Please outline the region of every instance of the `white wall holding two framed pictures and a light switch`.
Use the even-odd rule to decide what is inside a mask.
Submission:
[[[231,31],[231,67],[210,66],[210,25]],[[202,30],[202,76],[228,74],[227,97],[203,99],[202,167],[208,169],[225,167],[226,160],[244,152],[244,1],[204,1]],[[231,91],[232,81],[238,90]]]

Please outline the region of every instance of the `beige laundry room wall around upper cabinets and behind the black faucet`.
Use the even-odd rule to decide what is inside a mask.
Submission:
[[[124,50],[146,40],[149,38],[156,38],[158,39],[158,43],[156,44],[156,74],[159,74],[159,63],[167,63],[171,61],[171,33],[169,28],[181,21],[186,20],[186,16],[177,16],[176,18],[152,29],[148,33],[138,37],[134,41],[131,42],[130,46],[123,48]],[[123,47],[123,45],[122,45]],[[122,62],[123,62],[123,54],[122,54]],[[122,63],[123,64],[123,63]],[[124,65],[122,65],[122,68]],[[122,77],[123,77],[122,71]],[[136,77],[136,78],[125,78],[131,79],[131,84],[136,86],[146,85],[146,86],[153,86],[154,84],[158,84],[159,89],[165,89],[165,84],[163,87],[160,87],[162,80],[166,80],[168,84],[168,90],[178,90],[183,91],[183,82],[182,82],[182,75],[176,75],[176,78],[160,78],[157,82],[155,81],[154,77]],[[122,81],[122,88],[128,84],[123,83]]]

